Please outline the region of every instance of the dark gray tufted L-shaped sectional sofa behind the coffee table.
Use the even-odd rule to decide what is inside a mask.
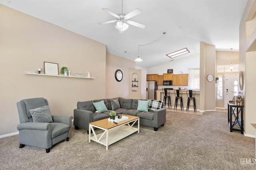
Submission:
[[[97,113],[94,106],[95,103],[104,101],[106,110],[102,113]],[[120,105],[116,107],[113,105],[113,101],[118,101],[116,104]],[[106,119],[109,117],[110,111],[116,111],[116,114],[126,114],[140,117],[140,124],[150,127],[154,127],[154,131],[158,131],[158,127],[164,126],[166,122],[166,109],[163,107],[163,102],[158,100],[150,100],[150,107],[148,111],[139,111],[138,102],[142,103],[146,100],[138,99],[125,99],[125,98],[112,98],[112,99],[101,99],[101,100],[90,100],[86,102],[77,102],[77,109],[74,109],[74,126],[75,129],[82,128],[86,129],[89,133],[89,123]],[[103,102],[101,102],[103,103]],[[153,103],[153,104],[152,104]],[[154,106],[152,106],[154,105]],[[156,107],[156,105],[158,105]]]

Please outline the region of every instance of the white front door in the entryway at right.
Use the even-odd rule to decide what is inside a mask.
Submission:
[[[226,109],[228,109],[228,101],[232,100],[234,96],[238,95],[239,74],[225,75],[225,91],[226,91]]]

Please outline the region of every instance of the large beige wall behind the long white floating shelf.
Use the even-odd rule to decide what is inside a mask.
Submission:
[[[22,99],[44,97],[53,115],[73,115],[78,101],[105,98],[106,45],[1,4],[0,22],[0,135],[17,131]],[[96,79],[25,74],[44,72],[44,61]]]

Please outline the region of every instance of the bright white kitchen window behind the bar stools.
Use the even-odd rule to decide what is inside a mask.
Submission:
[[[189,68],[188,88],[190,90],[200,90],[200,68]]]

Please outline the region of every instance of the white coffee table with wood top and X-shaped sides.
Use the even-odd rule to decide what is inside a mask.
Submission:
[[[108,121],[108,118],[89,123],[89,142],[91,142],[91,140],[98,142],[106,146],[106,150],[108,150],[109,145],[120,141],[121,139],[131,135],[134,132],[138,131],[138,133],[140,133],[140,117],[132,115],[126,116],[128,119],[120,121],[118,124],[115,124],[112,121]],[[138,121],[138,128],[133,127],[136,121]],[[102,129],[104,132],[96,135],[93,127]]]

